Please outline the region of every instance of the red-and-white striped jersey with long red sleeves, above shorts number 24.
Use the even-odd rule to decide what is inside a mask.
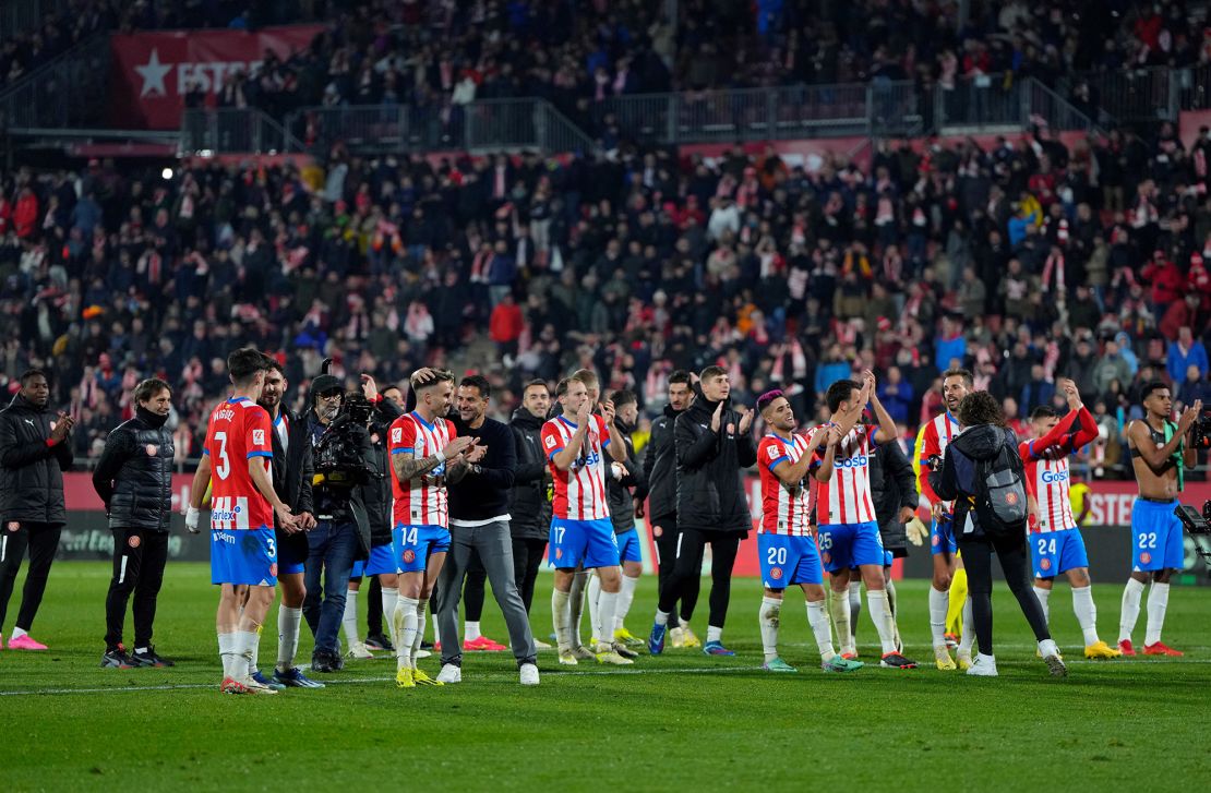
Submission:
[[[1038,523],[1031,524],[1034,534],[1075,529],[1072,513],[1071,472],[1068,455],[1097,437],[1097,424],[1087,408],[1071,412],[1055,429],[1041,438],[1020,443],[1018,453],[1026,464],[1026,485],[1039,502]]]

